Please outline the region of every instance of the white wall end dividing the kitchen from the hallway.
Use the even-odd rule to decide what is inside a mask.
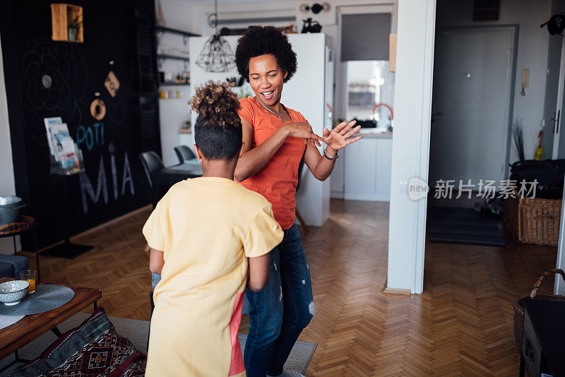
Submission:
[[[394,104],[387,288],[422,293],[427,201],[403,190],[427,181],[432,112],[435,0],[400,0]]]

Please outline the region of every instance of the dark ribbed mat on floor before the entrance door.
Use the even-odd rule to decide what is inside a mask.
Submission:
[[[428,229],[430,242],[506,246],[496,219],[472,208],[429,207]]]

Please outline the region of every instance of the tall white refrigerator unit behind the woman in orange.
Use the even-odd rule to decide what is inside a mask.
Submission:
[[[238,36],[226,36],[235,52]],[[331,48],[331,37],[323,33],[315,34],[290,34],[289,41],[292,49],[297,54],[298,69],[295,76],[285,83],[281,102],[285,106],[302,113],[309,121],[314,132],[321,136],[324,126],[331,128],[331,112],[333,108],[333,50]],[[196,65],[196,58],[200,54],[208,37],[191,37],[189,40],[190,50],[190,74],[191,74],[191,96],[198,85],[207,80],[226,80],[238,77],[237,69],[234,67],[229,72],[210,73]],[[251,95],[251,87],[244,83],[243,87],[235,88],[239,94]],[[328,106],[329,105],[329,106]],[[196,121],[196,114],[191,114],[191,123]],[[188,138],[188,136],[184,136]],[[184,140],[184,144],[186,143]],[[192,148],[194,135],[190,136],[189,147]],[[322,152],[325,145],[319,148]],[[321,226],[330,215],[330,179],[318,181],[305,166],[302,172],[300,191],[297,194],[297,208],[307,225]]]

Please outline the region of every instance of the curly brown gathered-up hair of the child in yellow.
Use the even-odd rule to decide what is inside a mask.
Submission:
[[[198,113],[194,140],[208,160],[232,160],[242,148],[239,98],[229,83],[209,80],[196,88],[189,105]]]

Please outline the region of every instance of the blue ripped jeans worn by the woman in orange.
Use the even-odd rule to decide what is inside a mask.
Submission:
[[[270,251],[270,277],[265,289],[251,292],[249,335],[244,363],[248,377],[283,373],[292,346],[314,316],[310,269],[295,225]]]

